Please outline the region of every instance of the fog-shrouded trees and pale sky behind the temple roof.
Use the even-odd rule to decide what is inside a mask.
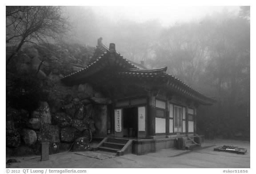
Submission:
[[[124,58],[167,73],[217,104],[199,108],[198,132],[250,132],[250,7],[66,7],[72,41],[116,44]],[[225,133],[223,133],[225,132]]]

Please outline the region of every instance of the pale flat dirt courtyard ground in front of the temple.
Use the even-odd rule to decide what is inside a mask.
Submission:
[[[213,151],[215,147],[223,145],[246,148],[247,152],[245,155],[241,155]],[[96,151],[96,153],[115,155],[100,151]],[[201,149],[194,151],[171,148],[145,155],[128,154],[102,160],[76,155],[75,152],[51,155],[48,161],[43,162],[40,161],[40,158],[28,158],[12,157],[12,159],[21,159],[21,161],[6,165],[6,168],[250,168],[250,142],[214,139],[206,140]]]

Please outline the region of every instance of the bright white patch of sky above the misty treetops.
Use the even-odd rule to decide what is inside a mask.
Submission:
[[[159,19],[163,26],[176,22],[188,22],[211,15],[214,12],[238,12],[239,6],[91,6],[96,14],[119,21],[130,19],[144,22]]]

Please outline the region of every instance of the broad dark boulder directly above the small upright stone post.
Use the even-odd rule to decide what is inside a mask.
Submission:
[[[38,133],[40,142],[60,143],[60,129],[57,125],[44,124]]]

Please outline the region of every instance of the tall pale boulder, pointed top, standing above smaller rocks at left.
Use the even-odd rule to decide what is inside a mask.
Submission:
[[[41,101],[39,102],[39,107],[32,112],[32,118],[39,118],[41,120],[41,125],[43,124],[51,124],[52,123],[52,116],[50,113],[50,107],[47,102]]]

